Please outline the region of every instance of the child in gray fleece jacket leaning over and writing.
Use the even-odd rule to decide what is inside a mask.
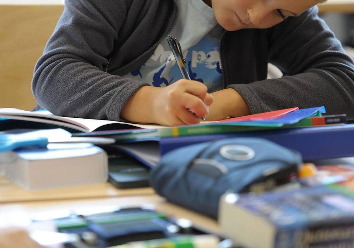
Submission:
[[[354,64],[318,0],[70,0],[35,67],[54,114],[195,124],[324,105],[354,118]],[[192,80],[166,41],[179,40]],[[267,80],[267,64],[283,73]]]

